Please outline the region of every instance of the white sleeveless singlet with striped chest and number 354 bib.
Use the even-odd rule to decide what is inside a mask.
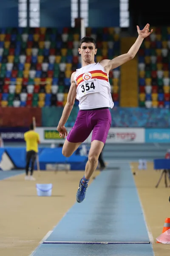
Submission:
[[[74,81],[77,85],[79,109],[113,108],[109,76],[101,64],[92,63],[76,70]]]

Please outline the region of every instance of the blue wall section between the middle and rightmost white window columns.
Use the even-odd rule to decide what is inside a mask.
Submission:
[[[119,26],[119,0],[89,0],[89,27]]]

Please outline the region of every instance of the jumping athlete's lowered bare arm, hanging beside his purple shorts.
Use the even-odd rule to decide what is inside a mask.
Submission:
[[[57,131],[59,132],[59,136],[62,138],[65,138],[67,136],[67,130],[65,128],[65,123],[68,120],[68,117],[70,116],[71,110],[74,106],[74,102],[76,99],[76,84],[74,81],[74,75],[76,72],[72,73],[71,75],[71,87],[68,92],[67,96],[67,103],[65,104],[65,107],[62,111],[62,116],[59,120],[59,124],[57,126]]]

